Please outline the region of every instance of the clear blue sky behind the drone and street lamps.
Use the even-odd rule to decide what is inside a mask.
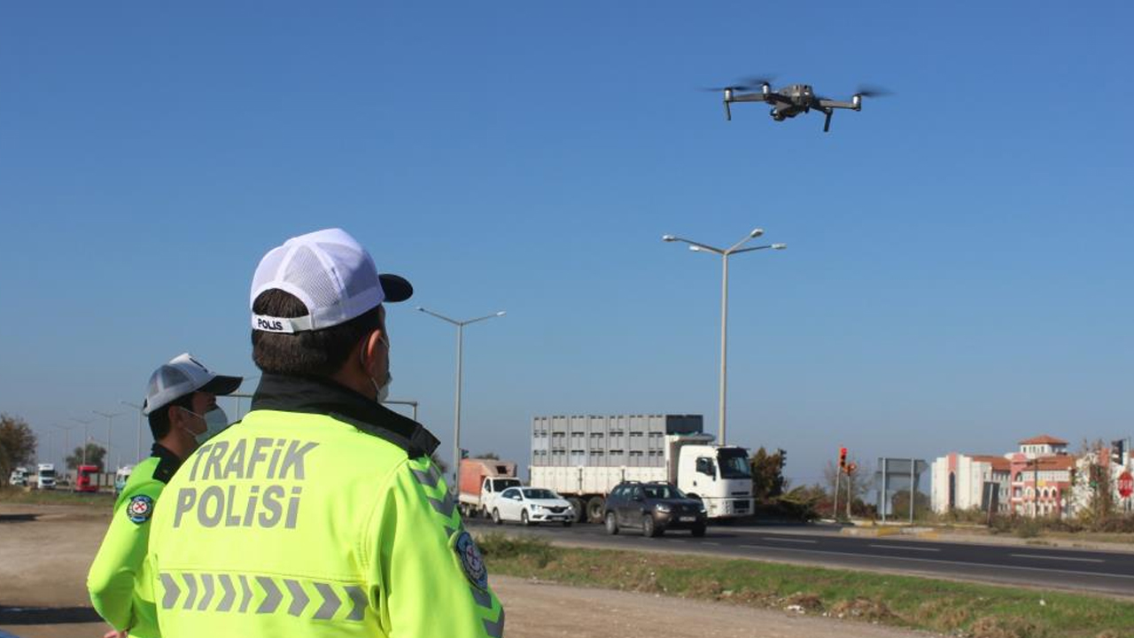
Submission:
[[[534,414],[711,425],[719,262],[660,236],[760,226],[789,249],[733,262],[730,442],[786,448],[795,479],[839,444],[872,460],[1127,436],[1132,17],[6,3],[0,410],[74,425],[186,350],[255,373],[259,258],[341,226],[414,304],[508,311],[466,333],[474,453],[526,459]],[[726,123],[695,90],[773,72],[896,95],[824,135],[763,106]],[[391,396],[418,400],[448,450],[452,329],[404,307],[390,330]],[[133,453],[133,417],[116,426]]]

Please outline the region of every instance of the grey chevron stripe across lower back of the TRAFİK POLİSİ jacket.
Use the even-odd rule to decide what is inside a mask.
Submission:
[[[361,622],[370,607],[366,589],[362,585],[211,572],[162,572],[159,580],[164,590],[161,608],[174,613],[286,613],[312,620]],[[255,587],[249,584],[255,584]],[[318,602],[318,605],[311,604],[312,601]]]

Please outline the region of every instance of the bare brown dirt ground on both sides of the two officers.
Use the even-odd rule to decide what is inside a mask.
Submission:
[[[0,503],[0,638],[98,638],[86,570],[109,512]],[[924,633],[602,589],[492,577],[511,638],[911,638]],[[566,610],[570,610],[568,613]],[[586,610],[585,613],[582,610]]]

